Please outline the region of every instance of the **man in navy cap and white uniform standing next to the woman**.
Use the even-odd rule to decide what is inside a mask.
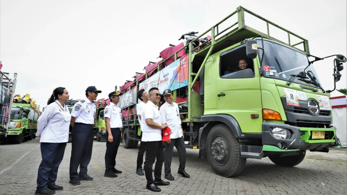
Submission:
[[[70,181],[71,185],[80,185],[79,180],[90,181],[92,177],[87,175],[87,167],[92,158],[93,149],[93,125],[96,116],[94,100],[101,93],[95,86],[86,89],[86,98],[75,103],[71,111],[72,126],[71,158],[70,158]],[[79,166],[79,173],[77,169]]]

